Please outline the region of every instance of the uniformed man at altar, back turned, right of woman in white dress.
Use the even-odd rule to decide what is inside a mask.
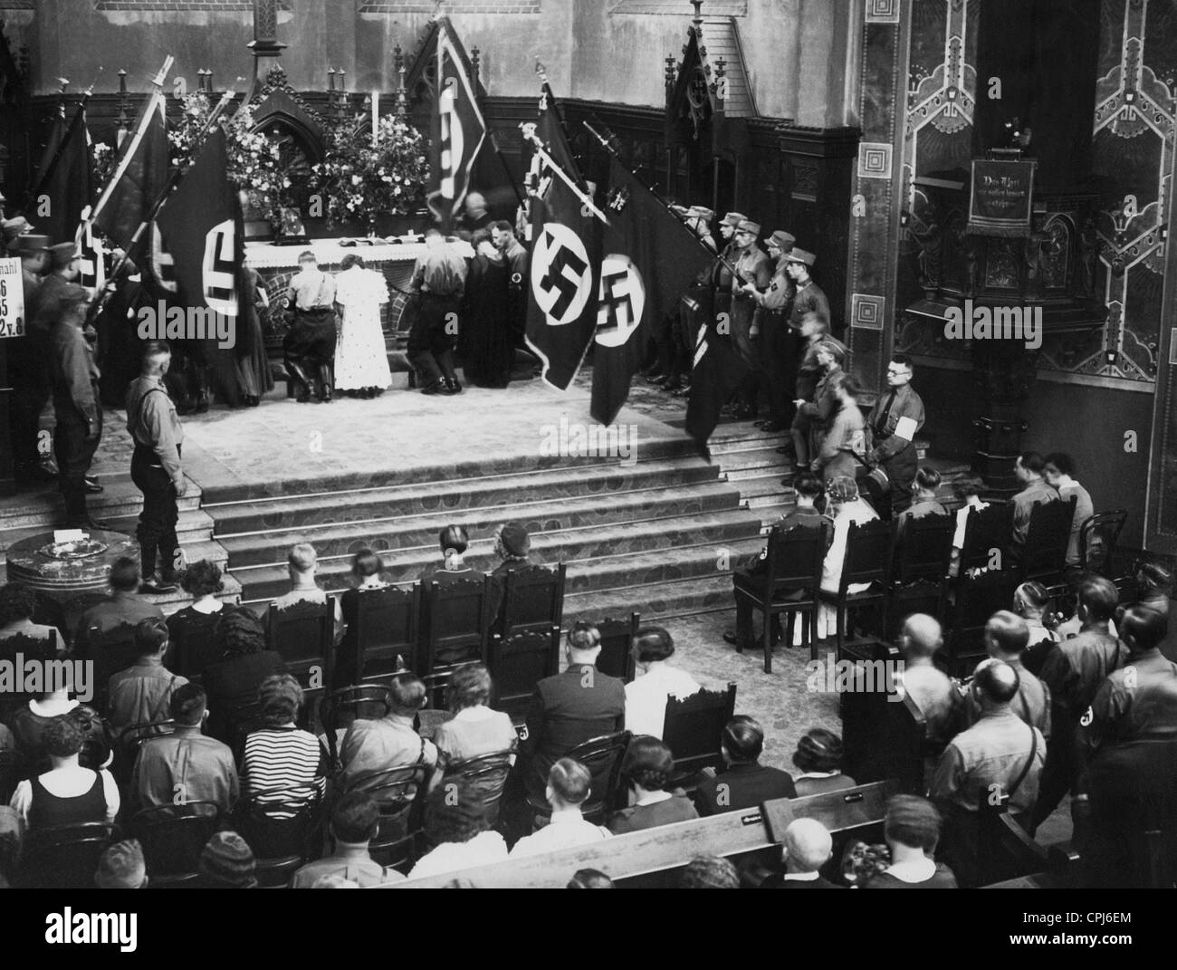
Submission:
[[[496,240],[501,239],[503,225],[494,224]],[[466,288],[466,260],[434,228],[425,231],[425,246],[426,252],[413,268],[412,290],[418,304],[417,319],[408,333],[408,359],[420,372],[423,394],[460,394],[461,385],[453,368],[458,337],[453,325],[458,323],[458,306]],[[512,275],[516,265],[517,261],[513,264],[508,257]]]

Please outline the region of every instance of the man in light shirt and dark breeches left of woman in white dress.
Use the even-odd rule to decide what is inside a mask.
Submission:
[[[319,268],[314,253],[299,253],[299,272],[291,278],[286,305],[294,313],[282,341],[286,373],[301,383],[299,404],[311,400],[315,380],[319,400],[332,399],[331,365],[335,359],[335,278]]]

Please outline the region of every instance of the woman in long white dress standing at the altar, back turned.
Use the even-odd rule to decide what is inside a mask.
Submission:
[[[344,257],[335,274],[335,305],[343,325],[335,343],[335,390],[374,398],[392,384],[388,354],[380,328],[380,305],[388,303],[384,277],[364,268],[355,253]]]

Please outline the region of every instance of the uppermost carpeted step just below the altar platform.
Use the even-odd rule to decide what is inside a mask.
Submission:
[[[701,459],[684,458],[676,461],[638,461],[631,466],[593,465],[576,474],[570,474],[566,469],[544,469],[486,478],[206,504],[205,509],[215,520],[215,533],[227,537],[418,513],[428,513],[435,521],[439,516],[476,509],[525,506],[528,500],[552,500],[556,496],[612,501],[632,492],[713,483],[718,480],[718,467]]]

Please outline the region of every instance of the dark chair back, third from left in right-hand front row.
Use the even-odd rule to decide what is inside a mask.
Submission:
[[[898,624],[906,614],[944,614],[955,534],[955,516],[924,516],[904,523],[903,537],[898,539],[891,560],[891,582],[886,587],[885,638],[896,636]]]

